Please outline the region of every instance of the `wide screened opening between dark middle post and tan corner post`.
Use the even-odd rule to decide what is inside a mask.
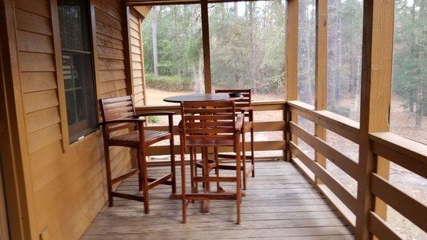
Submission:
[[[212,88],[285,100],[286,1],[209,4]]]

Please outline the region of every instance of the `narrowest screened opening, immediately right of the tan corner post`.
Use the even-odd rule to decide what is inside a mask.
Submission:
[[[298,100],[315,105],[316,1],[298,2]]]

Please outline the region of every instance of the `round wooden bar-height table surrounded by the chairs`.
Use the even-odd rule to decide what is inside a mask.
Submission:
[[[233,101],[242,99],[243,95],[240,95],[238,97],[231,97],[228,95],[228,93],[201,93],[201,94],[189,94],[189,95],[176,95],[164,98],[163,100],[168,103],[181,103],[181,102],[206,102],[206,101]],[[208,156],[208,149],[207,147],[203,147],[202,149],[202,158],[203,162],[206,164],[206,162],[209,162],[209,156]],[[209,172],[204,172],[204,174],[209,174]],[[210,191],[210,183],[205,182],[204,187],[206,191]],[[223,189],[221,189],[223,190]],[[181,195],[175,194],[174,196],[171,196],[173,199],[181,199]],[[204,200],[201,212],[209,212],[209,200]]]

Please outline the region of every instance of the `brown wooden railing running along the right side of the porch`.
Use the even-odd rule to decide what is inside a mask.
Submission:
[[[288,114],[300,115],[300,117],[315,122],[317,125],[325,127],[327,130],[337,133],[348,140],[352,140],[359,144],[359,123],[341,115],[331,113],[327,110],[314,110],[311,105],[307,105],[300,101],[288,102]],[[302,129],[297,122],[291,120],[287,123],[288,129],[292,135],[310,145],[316,152],[326,157],[328,160],[337,165],[350,177],[359,182],[361,177],[361,167],[357,162],[349,159],[339,150],[329,145],[325,140],[316,137],[310,132]],[[391,132],[377,132],[369,135],[370,151],[374,155],[373,165],[376,165],[378,156],[400,165],[409,171],[427,178],[427,146],[419,142],[408,140],[404,137],[399,137]],[[347,219],[351,226],[356,225],[356,218],[359,214],[360,204],[358,199],[354,197],[337,179],[334,178],[325,167],[315,162],[300,147],[297,141],[291,139],[288,142],[289,149],[292,152],[292,160],[300,167],[302,172],[307,174],[313,182],[315,177],[322,181],[322,184],[317,184],[320,191],[330,199]],[[427,231],[427,207],[425,204],[413,199],[408,194],[396,188],[388,180],[376,174],[375,167],[372,168],[370,181],[370,194],[372,197],[378,197],[390,207],[393,207],[397,212],[406,217],[413,224]],[[360,194],[359,194],[360,195]],[[364,196],[362,196],[364,197]],[[374,206],[369,212],[369,221],[367,228],[372,235],[377,236],[381,240],[397,240],[403,239],[399,234],[391,229],[384,219],[374,212]]]

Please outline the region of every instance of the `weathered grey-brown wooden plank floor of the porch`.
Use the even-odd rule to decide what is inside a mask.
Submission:
[[[82,240],[354,239],[342,216],[294,165],[257,162],[255,171],[243,198],[240,226],[233,201],[212,201],[207,214],[200,212],[201,202],[189,204],[188,224],[181,224],[181,201],[169,199],[170,188],[160,186],[150,192],[149,214],[141,202],[117,199],[115,207],[102,209]],[[167,167],[150,168],[149,177],[162,172]],[[137,179],[122,182],[120,190],[137,192]]]

